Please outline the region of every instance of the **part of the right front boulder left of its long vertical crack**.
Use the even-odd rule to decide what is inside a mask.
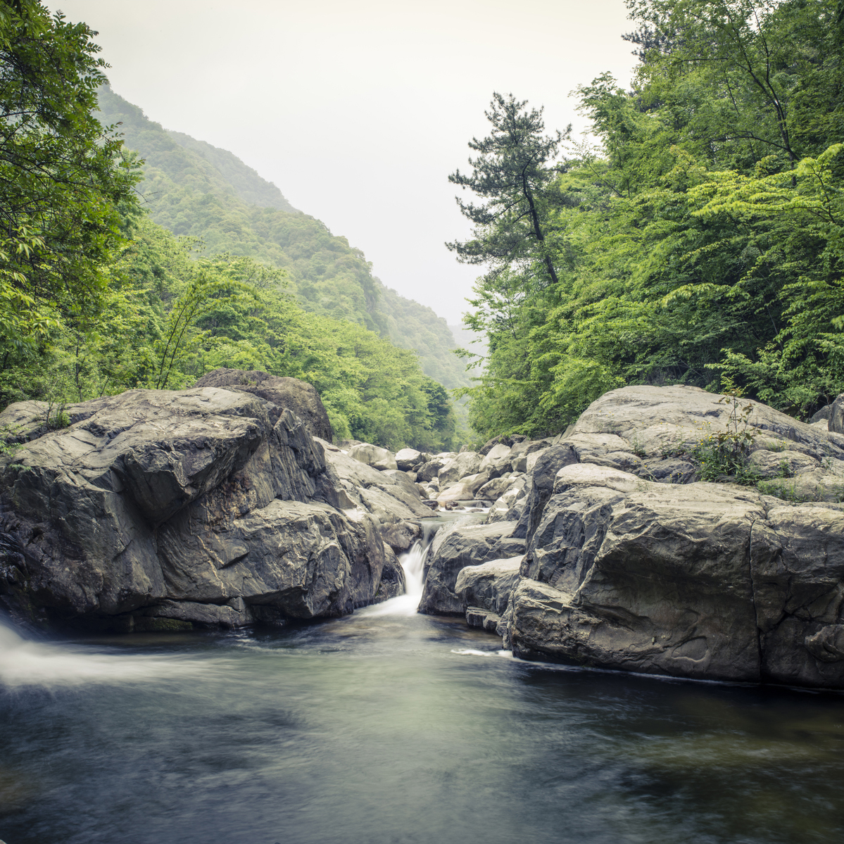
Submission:
[[[750,532],[760,496],[560,471],[513,595],[520,656],[709,679],[759,679]]]

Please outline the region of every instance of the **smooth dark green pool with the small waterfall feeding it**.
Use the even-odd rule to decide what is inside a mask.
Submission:
[[[844,696],[519,662],[404,565],[415,594],[284,630],[0,628],[0,838],[844,840]]]

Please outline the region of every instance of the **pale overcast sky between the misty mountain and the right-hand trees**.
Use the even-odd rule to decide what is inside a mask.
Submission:
[[[493,91],[585,122],[569,96],[635,58],[623,0],[48,0],[98,30],[112,88],[229,149],[450,323],[479,268],[447,176],[487,134]]]

